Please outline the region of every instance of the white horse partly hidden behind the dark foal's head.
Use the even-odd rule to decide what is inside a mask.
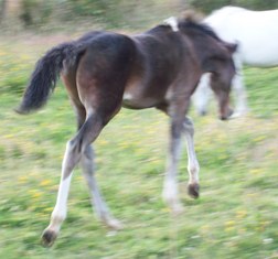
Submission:
[[[246,90],[243,83],[243,64],[255,67],[278,65],[278,10],[250,11],[238,7],[224,7],[214,11],[203,21],[224,41],[237,43],[234,54],[236,75],[235,116],[244,115],[247,108]],[[199,114],[206,114],[211,90],[210,75],[205,74],[193,96]]]

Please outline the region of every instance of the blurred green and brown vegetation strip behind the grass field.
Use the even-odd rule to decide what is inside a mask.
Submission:
[[[188,8],[204,13],[223,6],[276,9],[277,0],[0,0],[1,29],[61,30],[71,24],[141,29]],[[66,26],[67,25],[67,26]]]

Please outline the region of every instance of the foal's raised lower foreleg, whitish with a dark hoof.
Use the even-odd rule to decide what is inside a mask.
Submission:
[[[189,180],[189,194],[192,197],[199,197],[199,162],[194,149],[194,126],[190,118],[185,118],[183,123],[183,130],[186,138],[186,150],[188,150],[188,171],[190,175]]]

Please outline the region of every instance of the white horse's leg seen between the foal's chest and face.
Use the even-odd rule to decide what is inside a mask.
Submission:
[[[207,114],[207,105],[212,95],[212,90],[210,88],[210,73],[203,74],[195,89],[195,93],[192,96],[194,107],[197,114],[202,116]]]

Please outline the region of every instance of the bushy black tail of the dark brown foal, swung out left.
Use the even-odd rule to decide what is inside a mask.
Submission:
[[[63,64],[67,66],[76,64],[83,50],[76,42],[64,43],[53,47],[40,58],[17,112],[28,114],[45,105],[55,88]]]

